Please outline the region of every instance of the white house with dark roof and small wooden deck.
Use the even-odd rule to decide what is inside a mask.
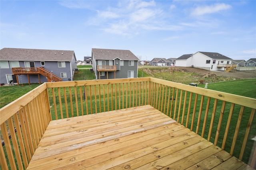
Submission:
[[[232,59],[219,53],[196,52],[176,59],[176,66],[196,67],[205,70],[224,71],[232,65]]]

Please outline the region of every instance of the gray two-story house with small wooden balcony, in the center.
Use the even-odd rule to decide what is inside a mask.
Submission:
[[[138,61],[130,50],[92,49],[96,79],[137,78]]]

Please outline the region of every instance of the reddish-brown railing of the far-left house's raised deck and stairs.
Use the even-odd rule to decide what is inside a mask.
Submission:
[[[16,67],[12,68],[13,74],[42,74],[48,78],[48,82],[60,82],[62,78],[56,76],[52,72],[44,69],[43,67]]]

